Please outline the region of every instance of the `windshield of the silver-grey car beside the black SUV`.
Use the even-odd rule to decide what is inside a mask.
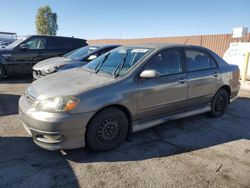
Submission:
[[[66,59],[80,59],[83,56],[89,54],[90,52],[97,50],[98,48],[99,47],[96,47],[96,46],[85,46],[82,48],[78,48],[72,52],[65,54],[64,58],[66,58]]]

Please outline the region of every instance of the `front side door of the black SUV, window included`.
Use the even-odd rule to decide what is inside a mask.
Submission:
[[[12,72],[32,73],[32,66],[44,59],[44,37],[31,37],[18,45],[13,52]]]

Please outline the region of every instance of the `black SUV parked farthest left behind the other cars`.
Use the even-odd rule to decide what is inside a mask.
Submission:
[[[86,46],[86,40],[72,37],[31,35],[22,37],[0,49],[0,80],[17,73],[32,73],[39,61],[64,55]]]

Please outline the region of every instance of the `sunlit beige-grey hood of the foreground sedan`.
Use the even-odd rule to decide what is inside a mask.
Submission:
[[[78,95],[112,82],[114,78],[90,73],[82,68],[66,70],[36,80],[29,87],[38,99],[55,96]]]

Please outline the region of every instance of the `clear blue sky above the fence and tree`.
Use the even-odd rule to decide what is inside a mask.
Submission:
[[[49,5],[60,36],[126,39],[250,30],[250,0],[0,0],[0,31],[36,34],[37,9]]]

